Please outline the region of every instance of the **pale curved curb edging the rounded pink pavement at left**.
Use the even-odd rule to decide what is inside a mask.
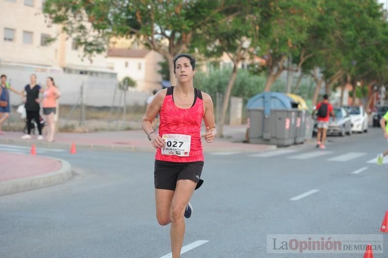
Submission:
[[[43,175],[0,182],[0,196],[58,184],[71,178],[72,171],[70,163],[63,159],[47,158],[61,162],[62,167],[57,171]]]

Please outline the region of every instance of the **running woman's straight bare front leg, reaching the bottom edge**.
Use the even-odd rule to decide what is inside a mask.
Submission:
[[[193,195],[197,182],[192,180],[178,180],[174,197],[171,202],[171,250],[172,257],[179,258],[182,249],[183,238],[185,235],[184,213],[190,198]]]

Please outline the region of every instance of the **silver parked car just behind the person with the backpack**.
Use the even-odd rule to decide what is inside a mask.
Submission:
[[[346,112],[344,107],[334,107],[334,114],[336,115],[336,120],[333,121],[333,118],[330,117],[329,128],[327,129],[327,135],[340,135],[345,136],[345,134],[352,135],[352,120],[348,112]],[[314,134],[318,132],[318,122],[315,120],[314,123]]]

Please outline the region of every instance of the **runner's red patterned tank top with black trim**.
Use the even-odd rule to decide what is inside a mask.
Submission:
[[[204,161],[201,142],[201,124],[204,116],[202,92],[194,88],[194,103],[193,106],[187,109],[175,106],[173,93],[174,86],[167,88],[167,93],[159,112],[159,135],[162,138],[163,136],[166,137],[166,135],[178,135],[179,137],[189,136],[190,151],[187,153],[187,156],[179,156],[171,153],[162,154],[162,150],[157,149],[155,159],[169,162]],[[169,142],[170,147],[177,147],[175,150],[180,151],[178,147],[183,145],[183,142],[179,140],[173,142],[174,145],[171,145],[171,142]],[[185,145],[182,148],[184,147]],[[163,152],[167,153],[165,150]],[[183,152],[181,154],[183,155]]]

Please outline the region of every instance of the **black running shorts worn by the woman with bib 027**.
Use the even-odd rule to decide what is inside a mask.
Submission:
[[[195,188],[198,189],[203,182],[203,180],[200,180],[202,168],[203,161],[169,162],[155,160],[155,188],[175,190],[178,180],[189,179],[194,182],[199,182]]]

